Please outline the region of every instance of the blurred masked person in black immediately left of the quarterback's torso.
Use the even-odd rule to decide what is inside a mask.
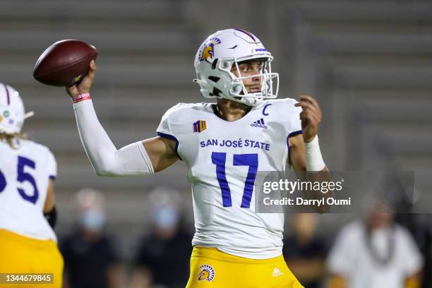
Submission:
[[[132,288],[186,287],[192,236],[181,226],[177,191],[156,188],[149,195],[152,232],[140,241]]]

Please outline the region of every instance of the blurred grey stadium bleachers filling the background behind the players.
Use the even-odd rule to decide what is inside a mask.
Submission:
[[[76,221],[76,191],[96,188],[104,192],[107,230],[119,239],[127,265],[148,231],[149,191],[161,185],[180,191],[192,230],[191,192],[182,162],[147,178],[97,177],[64,89],[32,78],[37,57],[62,39],[97,47],[92,99],[120,148],[155,136],[160,117],[177,102],[205,101],[192,83],[193,57],[207,35],[224,28],[250,30],[272,52],[279,97],[316,97],[330,169],[431,169],[431,1],[1,0],[1,82],[35,111],[24,130],[58,161],[60,238]],[[318,232],[328,236],[352,218],[318,217]],[[431,217],[414,223],[430,226]]]

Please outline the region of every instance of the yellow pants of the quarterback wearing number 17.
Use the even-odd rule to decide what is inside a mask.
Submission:
[[[186,288],[301,288],[283,256],[256,260],[196,246]]]

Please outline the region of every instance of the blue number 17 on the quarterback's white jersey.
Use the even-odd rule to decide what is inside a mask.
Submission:
[[[216,165],[216,176],[219,182],[220,191],[222,192],[222,203],[224,207],[231,207],[231,191],[225,175],[225,162],[227,153],[212,152],[212,163]],[[256,172],[258,170],[258,154],[234,154],[234,166],[248,166],[248,175],[244,183],[243,198],[241,199],[241,208],[250,208],[253,193],[253,184],[255,184]]]

